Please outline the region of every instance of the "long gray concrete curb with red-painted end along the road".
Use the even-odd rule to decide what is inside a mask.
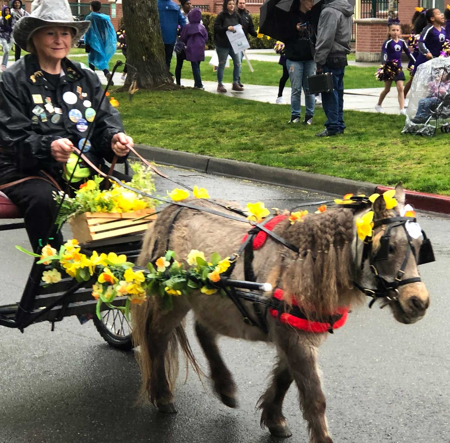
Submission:
[[[172,151],[154,146],[136,145],[135,147],[145,159],[158,164],[194,169],[206,174],[243,178],[275,186],[307,189],[337,196],[342,196],[342,194],[348,192],[366,195],[374,192],[381,194],[388,189],[392,189],[392,187],[349,180],[348,178],[311,174],[294,169],[275,168],[273,166],[263,166],[237,160],[219,159],[208,155]],[[406,201],[419,210],[450,214],[450,196],[406,190]]]

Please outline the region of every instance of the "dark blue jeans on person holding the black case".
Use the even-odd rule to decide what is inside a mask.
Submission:
[[[333,73],[333,92],[322,92],[322,108],[327,116],[325,128],[327,131],[336,134],[343,132],[346,128],[344,124],[344,71],[342,68],[329,68],[324,66],[324,73]]]

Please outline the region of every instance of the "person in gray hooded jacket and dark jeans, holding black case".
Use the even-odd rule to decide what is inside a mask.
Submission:
[[[347,0],[325,0],[317,26],[314,61],[317,73],[333,73],[333,92],[322,92],[322,107],[327,121],[317,137],[342,134],[344,124],[344,71],[350,54],[354,7]]]

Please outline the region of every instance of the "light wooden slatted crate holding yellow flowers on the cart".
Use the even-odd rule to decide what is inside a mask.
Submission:
[[[134,212],[84,212],[70,219],[73,238],[88,243],[145,231],[156,220],[154,208]]]

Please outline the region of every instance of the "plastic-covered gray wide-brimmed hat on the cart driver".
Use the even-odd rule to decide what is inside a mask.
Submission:
[[[72,43],[88,30],[90,21],[75,22],[67,0],[34,0],[31,14],[18,20],[14,26],[14,41],[22,49],[34,52],[31,36],[38,29],[47,26],[68,26],[75,30]]]

